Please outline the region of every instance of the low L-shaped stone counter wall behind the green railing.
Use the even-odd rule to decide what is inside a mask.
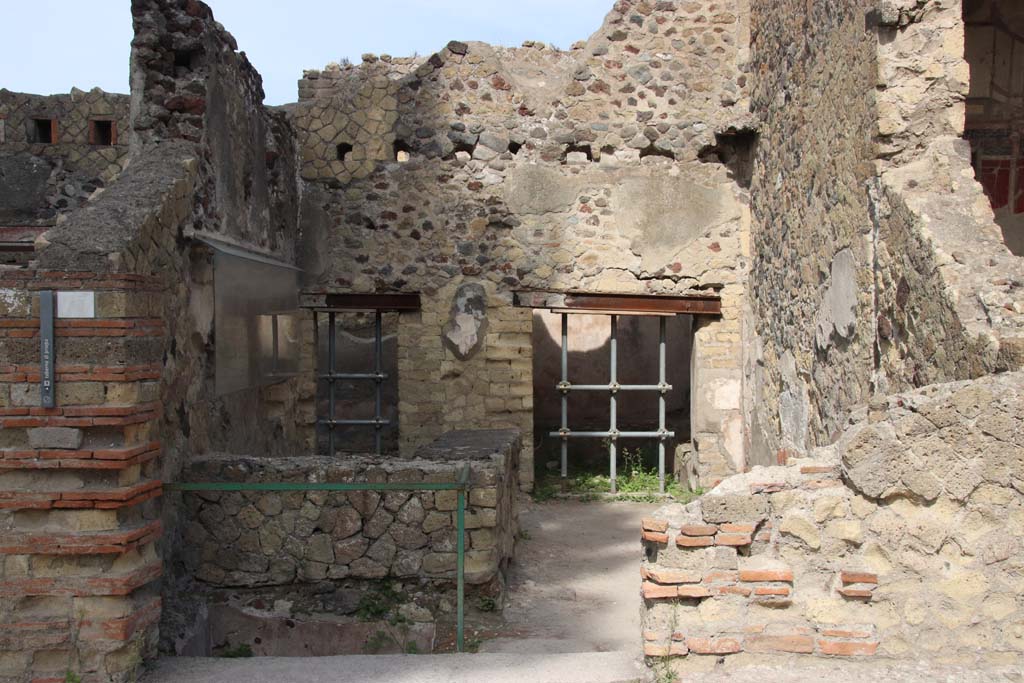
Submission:
[[[481,430],[449,432],[413,460],[211,456],[181,479],[455,482],[468,464],[466,581],[495,600],[515,544],[521,443],[516,431]],[[262,655],[429,651],[446,634],[435,622],[455,621],[455,490],[181,496],[182,540],[164,590],[167,651],[205,655],[241,644]],[[297,640],[285,621],[321,636]]]

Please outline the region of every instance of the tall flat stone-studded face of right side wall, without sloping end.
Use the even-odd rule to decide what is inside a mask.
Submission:
[[[870,393],[874,41],[864,3],[752,3],[759,462],[833,438]],[[799,58],[798,56],[799,55]]]

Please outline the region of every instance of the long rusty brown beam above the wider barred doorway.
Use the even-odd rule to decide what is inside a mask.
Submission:
[[[716,295],[660,296],[644,294],[589,294],[586,292],[516,292],[515,305],[525,308],[578,310],[594,313],[654,313],[658,315],[721,315]]]

